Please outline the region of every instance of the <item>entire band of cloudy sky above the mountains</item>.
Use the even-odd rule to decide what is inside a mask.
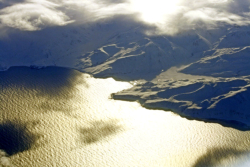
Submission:
[[[51,26],[87,24],[114,16],[176,34],[221,23],[250,24],[250,0],[0,0],[0,30],[38,31]]]

